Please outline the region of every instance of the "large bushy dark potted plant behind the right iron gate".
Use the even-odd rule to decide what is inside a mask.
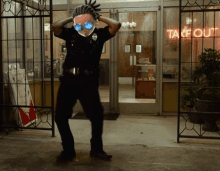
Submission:
[[[185,89],[189,94],[182,96],[181,107],[185,108],[188,104],[198,112],[220,112],[220,53],[206,48],[199,55],[199,61],[199,66],[192,74],[193,82],[191,86],[187,84]],[[216,121],[219,115],[203,113],[194,116],[198,117],[200,123],[205,121],[202,127],[204,131],[218,131]]]

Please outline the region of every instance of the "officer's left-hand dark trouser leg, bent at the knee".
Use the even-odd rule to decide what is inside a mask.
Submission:
[[[55,122],[57,124],[64,151],[75,151],[74,138],[71,133],[68,119],[72,116],[72,108],[77,100],[74,93],[73,83],[63,83],[61,81],[57,95],[57,105],[55,112]]]

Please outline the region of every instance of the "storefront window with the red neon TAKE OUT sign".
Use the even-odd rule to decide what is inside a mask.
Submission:
[[[213,9],[217,7],[209,7]],[[189,8],[193,10],[193,8]],[[220,49],[220,12],[182,13],[181,79],[190,80],[205,48]],[[204,18],[204,22],[203,22]],[[204,27],[203,27],[204,24]],[[204,28],[204,29],[203,29]],[[179,8],[164,9],[163,81],[179,77]]]

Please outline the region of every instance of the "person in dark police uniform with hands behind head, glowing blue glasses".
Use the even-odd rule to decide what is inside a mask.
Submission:
[[[91,121],[92,138],[90,140],[90,157],[110,160],[103,150],[103,107],[100,102],[99,60],[103,44],[114,37],[121,23],[102,17],[95,2],[77,7],[73,16],[57,21],[51,25],[54,35],[66,41],[67,55],[63,64],[63,76],[57,96],[55,122],[61,135],[63,151],[58,157],[61,160],[72,160],[76,157],[74,138],[70,131],[68,118],[72,116],[72,108],[79,99],[86,116]],[[96,28],[99,21],[106,23],[105,28]],[[73,22],[71,28],[65,28]]]

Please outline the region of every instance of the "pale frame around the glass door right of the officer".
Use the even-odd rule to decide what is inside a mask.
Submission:
[[[117,79],[112,79],[114,81],[116,81],[115,83],[110,84],[110,94],[112,93],[112,91],[116,91],[113,92],[113,98],[110,98],[110,104],[115,104],[117,103],[116,106],[113,106],[113,111],[112,111],[112,107],[110,107],[110,112],[115,112],[118,111],[119,113],[125,113],[125,114],[157,114],[157,115],[161,115],[161,109],[162,109],[162,103],[161,103],[161,96],[162,96],[162,51],[161,51],[161,12],[160,12],[160,8],[158,7],[153,7],[153,8],[120,8],[117,9],[117,15],[119,13],[133,13],[133,12],[156,12],[157,14],[157,43],[156,43],[156,70],[157,70],[157,75],[156,75],[156,102],[155,103],[122,103],[118,101],[118,75],[116,75],[115,70],[111,69],[110,67],[110,76],[111,77],[117,77]],[[118,34],[115,38],[117,40],[118,43]],[[111,40],[112,42],[114,42],[114,40]],[[111,44],[112,45],[112,44]],[[116,46],[111,46],[111,50],[115,53],[115,55],[118,57],[118,50],[117,48],[115,48]],[[118,64],[115,63],[115,59],[117,59],[117,57],[114,57],[113,54],[111,53],[110,58],[113,59],[112,61],[114,62],[115,67],[117,68],[118,71]],[[111,65],[111,64],[110,64]],[[111,78],[110,78],[111,80]],[[116,86],[114,88],[111,88],[111,86]],[[117,96],[117,97],[116,97]],[[113,102],[111,102],[113,101]],[[111,105],[110,105],[111,106]],[[114,108],[115,107],[115,108]]]

